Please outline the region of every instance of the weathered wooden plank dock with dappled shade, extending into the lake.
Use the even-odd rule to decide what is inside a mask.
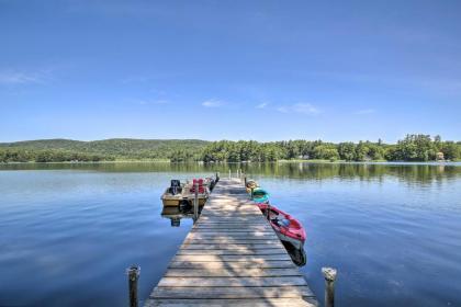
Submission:
[[[317,306],[238,180],[222,179],[145,307]]]

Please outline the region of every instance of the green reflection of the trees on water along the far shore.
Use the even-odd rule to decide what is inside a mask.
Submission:
[[[13,163],[0,164],[0,170],[79,170],[98,172],[182,172],[227,175],[241,169],[249,175],[291,179],[327,180],[340,178],[375,180],[394,177],[411,184],[432,184],[461,175],[461,163],[168,163],[168,162],[100,162],[100,163]]]

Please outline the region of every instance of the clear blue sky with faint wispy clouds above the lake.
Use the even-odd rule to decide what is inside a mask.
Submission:
[[[0,141],[461,140],[460,1],[0,0]]]

